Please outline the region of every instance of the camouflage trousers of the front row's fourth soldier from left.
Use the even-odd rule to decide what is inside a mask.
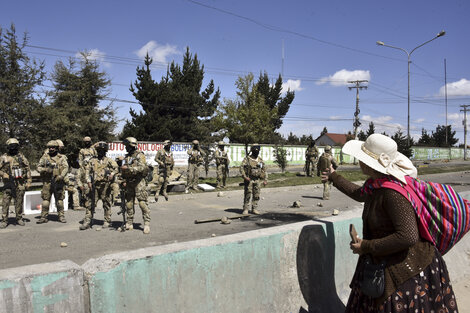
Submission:
[[[147,205],[148,191],[145,183],[145,179],[141,179],[138,183],[132,182],[126,183],[124,187],[126,193],[126,211],[127,211],[127,222],[132,224],[134,222],[134,201],[137,199],[139,207],[142,210],[142,218],[144,225],[150,224],[150,209]]]

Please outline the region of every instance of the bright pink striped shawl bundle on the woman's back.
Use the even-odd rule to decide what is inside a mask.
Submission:
[[[371,194],[374,189],[390,188],[402,194],[415,209],[421,237],[444,255],[470,229],[470,201],[449,185],[410,176],[406,176],[406,182],[405,185],[392,176],[369,179],[361,192]]]

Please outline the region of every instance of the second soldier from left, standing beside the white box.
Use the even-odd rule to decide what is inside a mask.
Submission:
[[[41,191],[41,218],[36,223],[42,224],[49,221],[49,205],[52,195],[54,195],[56,202],[59,222],[66,223],[67,221],[64,216],[64,179],[69,171],[69,165],[67,158],[59,153],[59,144],[57,141],[49,141],[47,147],[49,148],[49,152],[41,157],[38,164],[38,172],[41,175],[43,185]]]

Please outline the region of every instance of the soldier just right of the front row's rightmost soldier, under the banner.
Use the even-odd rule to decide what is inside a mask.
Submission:
[[[158,196],[162,194],[165,200],[168,201],[167,188],[170,182],[170,176],[175,166],[175,160],[171,150],[171,141],[165,140],[163,148],[157,151],[155,155],[155,162],[158,164],[158,176],[156,179],[157,191],[155,192],[155,201],[158,201]]]

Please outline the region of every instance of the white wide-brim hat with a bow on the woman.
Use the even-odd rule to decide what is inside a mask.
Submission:
[[[391,175],[405,184],[405,176],[416,178],[418,175],[411,160],[398,152],[397,143],[385,135],[372,134],[366,141],[350,140],[342,151],[377,172]]]

